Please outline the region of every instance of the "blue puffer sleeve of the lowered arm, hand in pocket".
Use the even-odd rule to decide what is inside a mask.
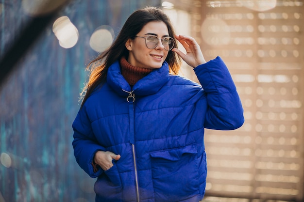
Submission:
[[[94,155],[97,151],[105,151],[105,148],[99,145],[95,138],[85,105],[78,111],[72,127],[74,130],[72,145],[77,163],[90,177],[98,177],[103,170],[99,168],[96,171],[96,164],[93,163]]]

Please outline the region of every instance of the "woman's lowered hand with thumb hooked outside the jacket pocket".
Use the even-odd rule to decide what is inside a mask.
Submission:
[[[103,171],[107,171],[112,168],[112,160],[119,160],[120,155],[116,155],[113,152],[98,151],[94,155],[94,162],[100,165]]]

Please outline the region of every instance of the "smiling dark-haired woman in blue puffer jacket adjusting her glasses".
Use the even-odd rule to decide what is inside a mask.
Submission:
[[[177,75],[180,58],[203,88]],[[244,122],[224,62],[205,62],[193,38],[175,35],[168,16],[148,7],[127,19],[90,65],[96,63],[73,123],[76,160],[98,178],[96,202],[200,201],[204,128],[232,130]]]

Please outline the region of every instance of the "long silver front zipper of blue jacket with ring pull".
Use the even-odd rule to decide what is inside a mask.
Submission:
[[[136,153],[135,153],[135,134],[134,134],[134,102],[135,94],[134,91],[125,91],[129,93],[127,101],[129,103],[129,119],[130,119],[130,143],[132,145],[133,161],[134,161],[134,170],[135,170],[135,186],[136,186],[136,200],[139,202],[139,187],[138,187],[138,173],[137,173],[137,163],[136,163]]]

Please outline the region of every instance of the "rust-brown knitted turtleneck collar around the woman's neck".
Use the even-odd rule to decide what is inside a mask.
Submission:
[[[144,78],[153,71],[153,69],[135,67],[130,64],[124,57],[120,59],[120,66],[121,74],[130,84],[130,86],[134,86],[138,80]]]

